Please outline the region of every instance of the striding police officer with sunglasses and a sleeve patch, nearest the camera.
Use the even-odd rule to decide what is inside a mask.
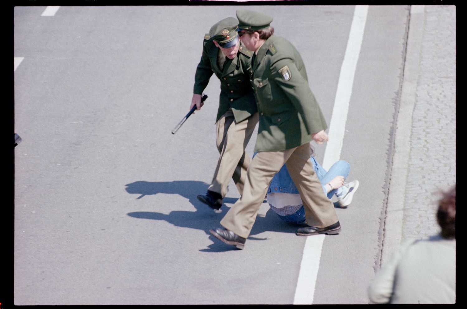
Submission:
[[[210,233],[242,249],[269,183],[285,163],[305,210],[307,225],[298,228],[297,235],[337,234],[340,223],[333,202],[323,192],[310,161],[309,142],[322,144],[328,137],[302,57],[289,41],[273,35],[269,15],[237,10],[237,19],[240,40],[255,53],[250,82],[260,114],[258,153],[248,167],[241,198],[220,221],[224,228]]]

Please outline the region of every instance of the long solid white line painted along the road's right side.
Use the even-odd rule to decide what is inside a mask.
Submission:
[[[355,6],[347,49],[340,68],[333,116],[329,124],[329,142],[326,145],[323,161],[325,169],[329,169],[334,162],[340,159],[348,106],[354,84],[355,68],[360,55],[367,14],[368,5]],[[297,288],[295,290],[294,305],[313,303],[324,239],[325,235],[315,235],[306,238],[302,262],[300,264],[300,273],[298,274]]]

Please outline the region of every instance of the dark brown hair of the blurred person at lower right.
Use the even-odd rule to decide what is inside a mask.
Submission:
[[[456,238],[456,186],[441,194],[436,214],[441,227],[441,236],[447,239]]]

